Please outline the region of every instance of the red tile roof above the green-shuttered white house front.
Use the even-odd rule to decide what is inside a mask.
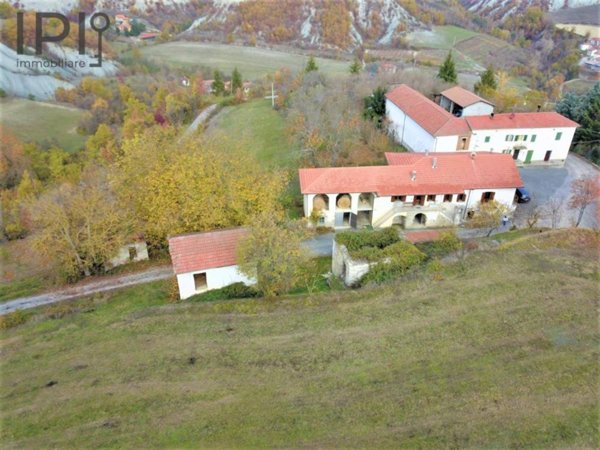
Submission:
[[[465,120],[473,130],[499,130],[506,128],[574,128],[577,122],[557,112],[503,113],[485,116],[467,116]]]

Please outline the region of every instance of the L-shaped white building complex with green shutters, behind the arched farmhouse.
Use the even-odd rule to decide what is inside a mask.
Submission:
[[[494,114],[492,104],[462,88],[444,91],[440,104],[398,86],[386,94],[390,132],[413,152],[494,152],[518,164],[563,164],[578,126],[556,112]]]

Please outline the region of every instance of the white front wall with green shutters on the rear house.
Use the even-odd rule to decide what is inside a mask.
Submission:
[[[557,141],[556,134],[562,132]],[[527,135],[526,141],[507,141],[507,135]],[[575,134],[575,128],[527,128],[527,129],[501,129],[501,130],[476,130],[471,135],[469,150],[471,151],[493,151],[502,153],[503,150],[514,151],[515,145],[523,146],[519,152],[519,162],[524,162],[527,151],[533,150],[531,162],[544,162],[546,151],[551,150],[550,162],[563,163],[567,159],[571,141]],[[535,142],[531,142],[536,135]],[[489,136],[489,142],[485,138]]]

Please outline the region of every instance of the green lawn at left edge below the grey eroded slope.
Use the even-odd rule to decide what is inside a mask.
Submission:
[[[21,98],[0,99],[0,124],[23,141],[55,143],[69,152],[83,147],[77,133],[82,110]]]

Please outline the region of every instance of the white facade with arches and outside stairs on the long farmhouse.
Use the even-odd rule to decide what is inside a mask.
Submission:
[[[444,194],[422,196],[423,205],[414,205],[414,195],[403,198],[396,196],[377,196],[368,194],[372,206],[359,202],[360,193],[349,193],[352,204],[350,208],[338,208],[336,198],[339,194],[319,194],[328,197],[328,208],[319,211],[319,226],[336,229],[364,227],[387,228],[397,225],[404,229],[423,229],[429,227],[449,227],[460,225],[468,211],[477,209],[484,192],[493,192],[494,200],[514,209],[515,188],[472,189],[460,194]],[[315,194],[305,194],[304,214],[310,217],[314,209]],[[359,215],[361,217],[359,217]],[[347,217],[347,220],[345,220]],[[424,219],[424,220],[423,220]]]

